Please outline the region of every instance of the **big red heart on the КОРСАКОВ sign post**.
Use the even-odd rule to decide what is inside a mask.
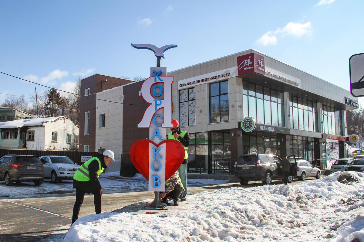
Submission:
[[[130,147],[130,159],[135,168],[149,180],[149,144],[159,145],[166,143],[166,180],[169,179],[181,166],[185,159],[185,148],[181,142],[174,139],[163,140],[158,145],[148,139],[139,139]]]

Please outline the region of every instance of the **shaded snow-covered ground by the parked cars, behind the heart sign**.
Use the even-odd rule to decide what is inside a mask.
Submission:
[[[105,193],[116,192],[141,192],[148,190],[146,179],[137,173],[134,177],[121,177],[120,172],[103,173],[99,181],[105,190]],[[1,198],[20,198],[20,197],[41,197],[49,194],[75,193],[72,186],[73,180],[64,180],[58,184],[53,184],[51,180],[44,180],[40,186],[35,186],[33,182],[22,182],[21,184],[13,183],[12,186],[6,186],[4,181],[0,181],[0,199]],[[204,186],[224,184],[228,181],[213,179],[189,179],[189,186]]]

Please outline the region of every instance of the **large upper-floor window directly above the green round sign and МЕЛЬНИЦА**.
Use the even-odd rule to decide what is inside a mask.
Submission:
[[[283,93],[243,81],[243,116],[258,124],[284,127]]]

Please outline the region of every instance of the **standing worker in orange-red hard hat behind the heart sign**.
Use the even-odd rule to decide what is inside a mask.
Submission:
[[[190,145],[190,136],[187,131],[181,131],[181,128],[179,128],[179,122],[175,119],[172,121],[173,126],[171,127],[171,132],[168,134],[168,139],[175,139],[181,142],[183,145],[183,148],[185,148],[185,157],[183,159],[183,162],[181,166],[178,168],[178,174],[181,178],[181,182],[183,185],[183,188],[185,189],[183,191],[183,195],[181,198],[181,201],[186,201],[187,198],[187,148]]]

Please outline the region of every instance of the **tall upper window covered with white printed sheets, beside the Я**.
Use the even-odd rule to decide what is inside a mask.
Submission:
[[[196,125],[194,88],[179,91],[179,124],[181,127]]]

